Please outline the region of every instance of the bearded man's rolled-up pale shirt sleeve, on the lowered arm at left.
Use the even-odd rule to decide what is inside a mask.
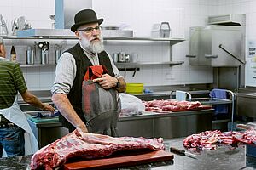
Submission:
[[[76,64],[70,53],[61,54],[55,70],[55,81],[51,88],[52,94],[69,94],[76,76]]]

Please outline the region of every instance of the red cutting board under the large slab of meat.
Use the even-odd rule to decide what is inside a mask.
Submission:
[[[109,169],[117,167],[129,167],[139,164],[146,164],[154,161],[170,161],[173,155],[164,150],[154,151],[133,151],[125,154],[116,154],[102,159],[73,161],[64,165],[65,170],[73,169]]]

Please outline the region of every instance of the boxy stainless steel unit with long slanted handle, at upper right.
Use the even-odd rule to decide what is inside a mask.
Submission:
[[[241,26],[191,27],[187,57],[190,65],[241,65]]]

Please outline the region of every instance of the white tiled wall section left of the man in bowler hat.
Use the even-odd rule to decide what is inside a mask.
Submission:
[[[55,14],[55,1],[53,0],[0,0],[0,14],[3,15],[3,19],[11,30],[11,25],[15,18],[25,16],[26,20],[31,23],[32,28],[51,28],[52,20],[49,15]],[[3,31],[0,29],[0,33]],[[25,63],[26,46],[33,45],[24,41],[12,42],[6,41],[7,58],[9,58],[10,45],[14,44],[17,60],[21,63]],[[39,54],[37,54],[39,57]],[[50,59],[52,62],[52,59]],[[22,68],[26,84],[30,90],[49,90],[54,80],[54,67],[29,67]]]

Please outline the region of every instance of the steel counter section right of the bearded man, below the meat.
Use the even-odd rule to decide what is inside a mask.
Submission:
[[[178,138],[212,129],[213,109],[119,117],[119,136]]]

